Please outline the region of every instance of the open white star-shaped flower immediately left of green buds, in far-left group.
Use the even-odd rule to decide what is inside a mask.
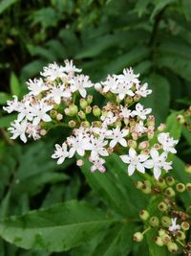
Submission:
[[[32,105],[32,114],[34,116],[32,125],[37,126],[41,120],[44,122],[51,122],[52,119],[50,115],[47,114],[51,109],[53,109],[53,105],[47,105],[43,101]]]

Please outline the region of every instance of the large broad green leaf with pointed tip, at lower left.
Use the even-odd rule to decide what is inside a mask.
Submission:
[[[26,249],[64,251],[85,243],[114,219],[85,202],[67,201],[0,223],[0,236]]]

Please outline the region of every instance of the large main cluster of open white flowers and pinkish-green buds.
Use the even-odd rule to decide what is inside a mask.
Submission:
[[[11,138],[27,142],[28,137],[39,139],[53,126],[69,127],[73,128],[71,136],[56,144],[52,155],[58,164],[75,153],[86,154],[91,171],[104,173],[106,158],[117,152],[129,175],[148,169],[159,179],[162,170],[171,170],[168,154],[176,153],[178,141],[164,132],[163,124],[155,129],[152,109],[138,103],[152,93],[148,84],[141,84],[132,68],[96,83],[80,72],[73,61],[65,60],[65,66],[49,64],[40,79],[28,81],[30,92],[20,102],[13,96],[4,107],[9,113],[18,112],[9,128]],[[93,105],[93,96],[87,93],[90,87],[106,99],[106,105]]]

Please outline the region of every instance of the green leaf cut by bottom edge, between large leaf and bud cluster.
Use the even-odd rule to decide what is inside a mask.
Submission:
[[[97,244],[91,256],[126,256],[133,245],[135,223],[123,222],[108,229],[106,236]]]

